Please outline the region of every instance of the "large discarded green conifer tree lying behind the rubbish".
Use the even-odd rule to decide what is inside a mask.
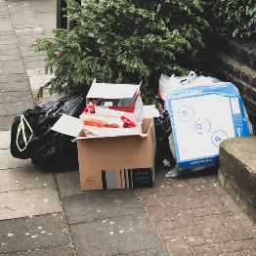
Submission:
[[[55,72],[46,85],[51,93],[86,93],[94,78],[143,81],[148,104],[161,73],[180,75],[198,64],[201,31],[208,26],[200,18],[199,0],[87,0],[83,6],[65,1],[68,19],[76,26],[56,29],[54,38],[33,45],[36,52],[46,52],[46,71]]]

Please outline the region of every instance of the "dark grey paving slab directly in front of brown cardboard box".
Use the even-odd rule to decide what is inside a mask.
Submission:
[[[68,224],[144,213],[132,190],[83,192],[62,199]]]

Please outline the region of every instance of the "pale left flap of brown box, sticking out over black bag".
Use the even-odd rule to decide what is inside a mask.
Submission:
[[[67,114],[63,114],[52,127],[52,130],[72,137],[77,137],[82,129],[83,124],[81,120]]]

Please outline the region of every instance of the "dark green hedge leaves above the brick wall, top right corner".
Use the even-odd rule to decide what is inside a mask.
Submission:
[[[255,0],[216,0],[209,2],[207,7],[207,21],[215,38],[256,37]]]

